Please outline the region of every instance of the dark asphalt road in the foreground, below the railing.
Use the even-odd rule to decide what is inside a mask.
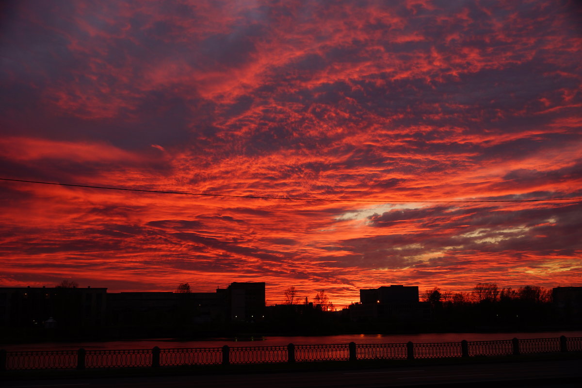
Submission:
[[[430,365],[350,371],[252,373],[204,376],[116,377],[5,382],[5,388],[379,388],[395,386],[579,387],[580,359],[473,365]]]

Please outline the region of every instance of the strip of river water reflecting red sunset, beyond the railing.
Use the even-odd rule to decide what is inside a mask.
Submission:
[[[119,350],[119,349],[151,349],[158,346],[162,349],[168,348],[215,348],[228,346],[276,346],[293,343],[296,345],[309,344],[347,344],[355,342],[357,344],[374,343],[435,343],[435,342],[460,342],[467,341],[489,341],[489,340],[509,340],[514,337],[519,339],[533,338],[556,338],[559,336],[582,337],[582,331],[562,331],[562,332],[537,332],[537,333],[428,333],[428,334],[345,334],[339,336],[269,336],[269,337],[245,337],[245,338],[216,338],[195,341],[177,341],[175,339],[147,339],[147,340],[122,340],[104,342],[45,342],[32,344],[10,344],[2,345],[8,351],[25,350]]]

